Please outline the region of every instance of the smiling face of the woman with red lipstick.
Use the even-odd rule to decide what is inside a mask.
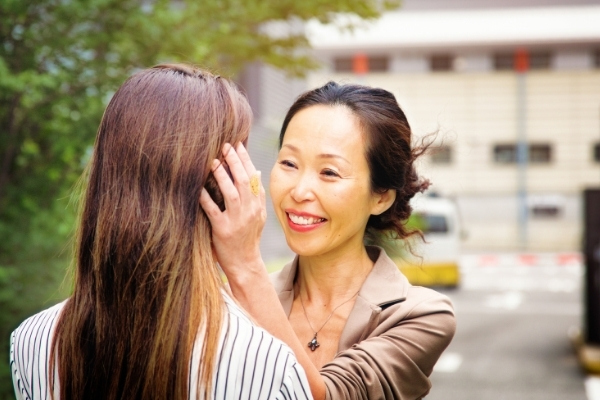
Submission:
[[[292,118],[270,192],[288,245],[302,256],[362,246],[369,216],[384,211],[371,192],[359,121],[344,106],[311,106]]]

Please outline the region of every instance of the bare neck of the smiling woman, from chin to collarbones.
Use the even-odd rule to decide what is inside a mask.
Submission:
[[[300,256],[295,291],[308,303],[333,309],[358,292],[372,269],[362,244],[338,255]]]

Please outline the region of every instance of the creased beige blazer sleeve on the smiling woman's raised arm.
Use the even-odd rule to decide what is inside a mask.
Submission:
[[[417,301],[406,300],[367,339],[336,355],[321,375],[327,399],[424,397],[429,375],[456,330],[450,300],[425,288]]]

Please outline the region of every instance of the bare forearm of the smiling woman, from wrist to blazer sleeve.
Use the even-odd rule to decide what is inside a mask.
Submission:
[[[325,381],[296,337],[262,260],[246,266],[242,274],[228,276],[228,281],[233,296],[256,322],[294,351],[306,372],[315,400],[325,399]]]

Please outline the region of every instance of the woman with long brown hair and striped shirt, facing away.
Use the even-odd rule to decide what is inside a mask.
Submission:
[[[232,83],[186,65],[119,88],[85,175],[73,294],[11,336],[17,398],[310,398],[291,350],[224,291],[199,206],[204,187],[220,199],[213,161],[251,119]],[[264,220],[257,176],[236,187]]]

